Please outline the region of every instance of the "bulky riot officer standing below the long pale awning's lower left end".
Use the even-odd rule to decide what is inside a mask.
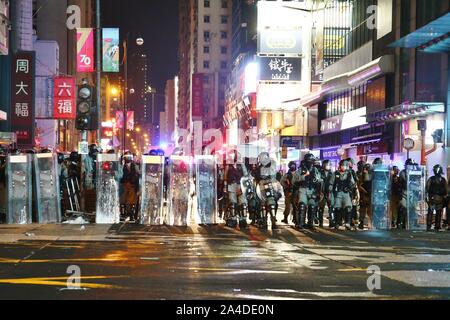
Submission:
[[[294,185],[298,188],[296,196],[296,227],[314,228],[314,217],[319,206],[319,194],[322,187],[322,177],[314,166],[314,155],[307,154],[294,175]],[[306,215],[308,224],[306,225]]]

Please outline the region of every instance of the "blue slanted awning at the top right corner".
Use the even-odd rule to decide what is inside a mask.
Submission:
[[[450,13],[390,44],[391,48],[418,48],[425,52],[450,51]]]

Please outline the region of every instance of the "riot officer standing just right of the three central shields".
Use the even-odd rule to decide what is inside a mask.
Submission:
[[[247,227],[247,199],[241,189],[241,179],[247,175],[247,168],[239,159],[237,150],[229,154],[225,167],[224,192],[228,197],[226,225],[236,228],[238,223],[241,228]]]

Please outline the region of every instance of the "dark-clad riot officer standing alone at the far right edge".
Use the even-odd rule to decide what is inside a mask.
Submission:
[[[433,224],[433,212],[436,211],[434,230],[439,231],[442,223],[442,211],[448,196],[447,180],[443,175],[442,167],[437,164],[433,167],[434,176],[428,179],[426,195],[428,203],[427,231],[431,231]]]

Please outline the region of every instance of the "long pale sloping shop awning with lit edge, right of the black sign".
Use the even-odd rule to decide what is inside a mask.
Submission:
[[[319,91],[299,99],[300,104],[303,106],[317,104],[331,93],[350,89],[360,83],[392,72],[394,72],[394,56],[382,56],[352,72],[328,79],[322,84]]]

